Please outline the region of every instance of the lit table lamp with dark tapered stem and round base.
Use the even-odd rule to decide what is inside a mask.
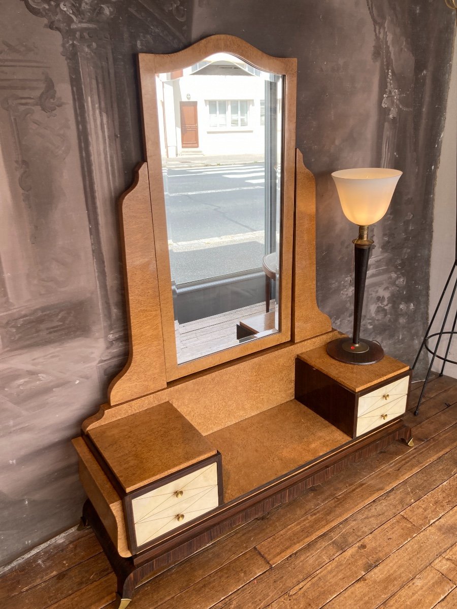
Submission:
[[[352,241],[355,247],[352,339],[344,337],[332,340],[327,345],[328,355],[345,364],[374,364],[384,357],[383,348],[378,342],[360,338],[368,259],[374,243],[368,238],[368,227],[380,220],[388,210],[400,175],[402,172],[397,169],[381,167],[343,169],[331,174],[344,215],[359,227],[359,236]]]

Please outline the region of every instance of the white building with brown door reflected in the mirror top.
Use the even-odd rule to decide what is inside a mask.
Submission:
[[[263,155],[265,90],[272,78],[224,53],[179,72],[160,74],[157,97],[163,156],[174,158],[186,152]]]

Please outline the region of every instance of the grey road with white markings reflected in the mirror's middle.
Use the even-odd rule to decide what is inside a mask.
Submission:
[[[261,267],[263,163],[168,169],[165,190],[176,283]]]

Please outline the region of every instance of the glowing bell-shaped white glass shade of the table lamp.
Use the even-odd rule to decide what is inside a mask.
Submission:
[[[362,167],[335,171],[331,177],[347,219],[359,226],[369,226],[388,210],[400,175],[402,172],[397,169]]]

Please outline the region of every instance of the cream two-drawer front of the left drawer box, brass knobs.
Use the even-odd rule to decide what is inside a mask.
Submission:
[[[216,463],[154,488],[132,499],[136,545],[142,546],[218,505]]]

